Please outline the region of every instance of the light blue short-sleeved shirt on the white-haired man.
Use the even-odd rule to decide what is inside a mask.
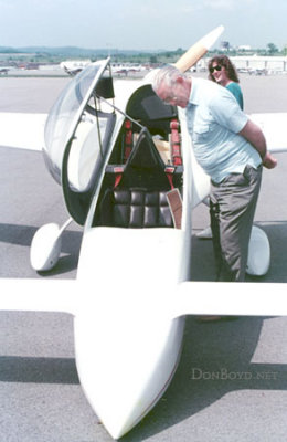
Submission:
[[[192,78],[187,106],[188,129],[196,160],[214,182],[230,173],[242,173],[245,166],[257,168],[257,150],[237,135],[248,120],[236,98],[225,87]]]

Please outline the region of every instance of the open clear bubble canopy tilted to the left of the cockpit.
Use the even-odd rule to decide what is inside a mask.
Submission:
[[[73,77],[45,125],[46,166],[62,185],[67,209],[79,224],[85,222],[85,201],[95,187],[115,124],[114,112],[103,112],[96,98],[114,96],[113,80],[106,75],[108,63],[109,59],[92,63]]]

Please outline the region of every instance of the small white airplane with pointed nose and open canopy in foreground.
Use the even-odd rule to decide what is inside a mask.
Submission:
[[[195,43],[178,67],[191,67],[222,30]],[[252,117],[270,150],[287,148],[286,114]],[[192,209],[209,196],[209,178],[193,157],[184,112],[156,96],[150,76],[123,88],[109,59],[88,64],[51,109],[43,155],[71,218],[36,231],[31,264],[36,271],[56,265],[62,232],[74,220],[84,227],[77,277],[23,280],[21,293],[15,281],[3,281],[9,296],[0,308],[74,315],[82,387],[118,439],[168,388],[185,315],[286,315],[285,287],[276,284],[270,296],[268,284],[251,294],[248,283],[242,291],[242,284],[190,281]],[[248,265],[257,274],[269,265],[268,241],[257,228]]]

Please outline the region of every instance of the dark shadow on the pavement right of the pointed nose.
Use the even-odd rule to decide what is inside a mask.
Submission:
[[[123,442],[147,440],[236,390],[285,390],[286,365],[251,362],[264,319],[201,324],[188,317],[181,361],[170,387]]]

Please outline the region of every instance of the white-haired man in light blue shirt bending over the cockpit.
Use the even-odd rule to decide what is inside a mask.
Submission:
[[[216,281],[244,281],[262,165],[272,169],[277,161],[261,128],[224,87],[171,65],[158,71],[152,87],[163,102],[187,109],[195,158],[211,177]]]

